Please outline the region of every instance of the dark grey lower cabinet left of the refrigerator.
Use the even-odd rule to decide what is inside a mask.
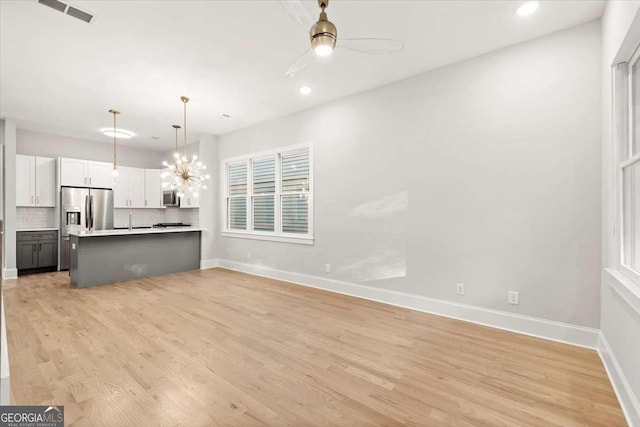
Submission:
[[[57,231],[18,231],[16,246],[18,271],[58,266]]]

